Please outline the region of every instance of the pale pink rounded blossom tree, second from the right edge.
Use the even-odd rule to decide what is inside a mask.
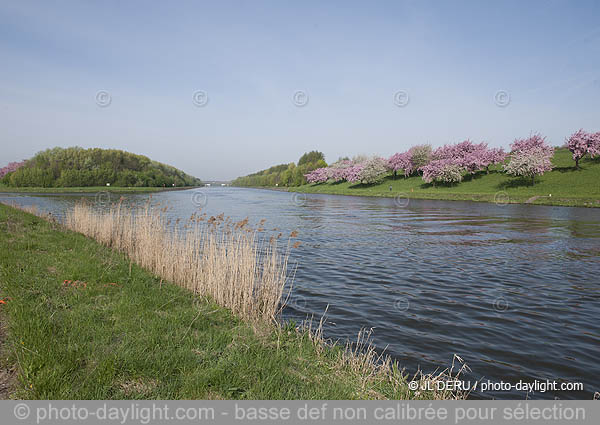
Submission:
[[[510,145],[510,162],[504,166],[504,171],[512,176],[531,177],[552,170],[554,148],[546,144],[546,138],[534,134],[527,139],[517,139]]]

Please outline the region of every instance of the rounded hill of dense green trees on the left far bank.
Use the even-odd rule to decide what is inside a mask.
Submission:
[[[146,156],[116,149],[52,148],[0,169],[11,187],[197,186],[200,179]]]

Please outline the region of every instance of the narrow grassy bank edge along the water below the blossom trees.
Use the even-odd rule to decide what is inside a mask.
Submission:
[[[272,187],[272,186],[233,186],[243,189],[262,189],[274,190],[278,192],[290,193],[310,193],[321,195],[336,195],[336,196],[360,196],[367,198],[397,198],[398,203],[402,206],[407,206],[410,199],[431,200],[431,201],[462,201],[462,202],[483,202],[504,205],[545,205],[553,207],[580,207],[580,208],[600,208],[600,200],[595,198],[565,198],[565,197],[548,197],[548,196],[533,196],[533,197],[518,197],[506,196],[506,192],[489,193],[418,193],[418,192],[379,192],[379,193],[340,193],[339,191],[328,190],[323,185],[303,185],[298,187]],[[353,190],[353,189],[348,189]],[[408,199],[408,201],[407,201]]]

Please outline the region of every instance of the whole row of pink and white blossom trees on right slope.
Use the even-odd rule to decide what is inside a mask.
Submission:
[[[388,159],[361,157],[339,160],[305,177],[309,183],[348,181],[370,184],[381,181],[392,172],[394,178],[398,173],[404,177],[420,174],[427,183],[452,184],[462,181],[465,175],[482,171],[489,173],[490,166],[503,164],[507,174],[531,178],[533,184],[536,176],[552,170],[554,148],[540,134],[517,139],[510,147],[511,152],[507,154],[502,148],[491,148],[487,143],[469,140],[447,144],[435,150],[430,145],[418,145],[406,152],[395,153]],[[568,138],[567,147],[573,153],[578,168],[584,156],[600,156],[600,133],[579,130]]]

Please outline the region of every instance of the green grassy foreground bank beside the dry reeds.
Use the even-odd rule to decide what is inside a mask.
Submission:
[[[339,366],[339,349],[320,352],[290,326],[253,328],[93,240],[1,204],[0,253],[13,398],[414,396],[384,380],[363,388]],[[87,286],[63,287],[65,279]]]

